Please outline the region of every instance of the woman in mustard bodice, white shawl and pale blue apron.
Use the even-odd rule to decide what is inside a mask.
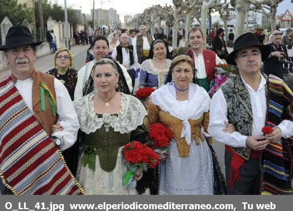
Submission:
[[[146,127],[161,122],[173,133],[168,153],[160,154],[158,192],[225,194],[215,152],[201,131],[209,125],[209,94],[192,83],[194,63],[188,56],[174,58],[170,72],[172,82],[152,92],[144,121]]]

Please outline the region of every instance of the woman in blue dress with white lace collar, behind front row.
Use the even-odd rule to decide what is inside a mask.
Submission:
[[[169,71],[171,60],[167,59],[167,43],[162,40],[153,42],[153,58],[144,61],[140,66],[139,86],[160,88],[164,85]]]

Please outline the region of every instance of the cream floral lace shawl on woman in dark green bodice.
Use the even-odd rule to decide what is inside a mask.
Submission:
[[[103,114],[103,117],[99,118],[94,111],[93,96],[94,93],[90,93],[74,101],[74,108],[81,130],[86,134],[95,132],[104,124],[113,127],[114,131],[122,134],[130,133],[143,124],[144,118],[147,115],[146,108],[137,98],[122,93],[122,109],[117,113],[118,116]]]

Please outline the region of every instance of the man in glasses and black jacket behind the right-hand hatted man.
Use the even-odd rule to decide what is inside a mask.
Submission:
[[[263,71],[267,75],[272,74],[284,80],[284,72],[287,71],[288,54],[286,46],[281,44],[282,34],[278,30],[272,33],[272,43],[268,44],[271,47],[271,54],[264,61]]]

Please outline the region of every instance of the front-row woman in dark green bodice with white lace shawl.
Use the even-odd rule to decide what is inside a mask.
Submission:
[[[135,97],[116,91],[119,71],[112,60],[97,62],[92,79],[94,91],[74,101],[83,132],[77,180],[87,194],[146,194],[142,171],[136,173],[136,189],[127,190],[122,182],[122,149],[131,140],[144,139],[146,109]]]

